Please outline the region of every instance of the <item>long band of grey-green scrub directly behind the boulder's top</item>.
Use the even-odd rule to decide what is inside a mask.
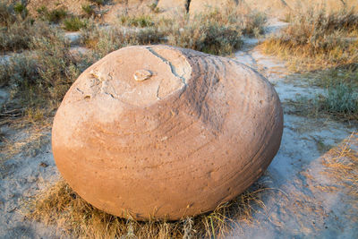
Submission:
[[[118,24],[101,28],[91,24],[82,30],[83,44],[99,55],[127,45],[165,43],[192,48],[214,55],[230,55],[241,47],[242,35],[260,35],[266,23],[262,13],[213,11],[190,17],[178,14],[175,19],[158,15],[122,15]],[[141,29],[138,29],[141,28]]]

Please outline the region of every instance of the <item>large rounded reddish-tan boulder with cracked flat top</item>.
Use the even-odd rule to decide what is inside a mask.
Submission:
[[[248,66],[177,47],[124,47],[73,83],[52,145],[64,179],[98,209],[175,220],[243,192],[282,131],[276,91]]]

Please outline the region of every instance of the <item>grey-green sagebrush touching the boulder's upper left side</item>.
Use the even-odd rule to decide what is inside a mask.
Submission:
[[[30,49],[3,63],[0,84],[11,86],[25,108],[58,107],[72,82],[92,62],[77,62],[58,30],[33,38]]]

